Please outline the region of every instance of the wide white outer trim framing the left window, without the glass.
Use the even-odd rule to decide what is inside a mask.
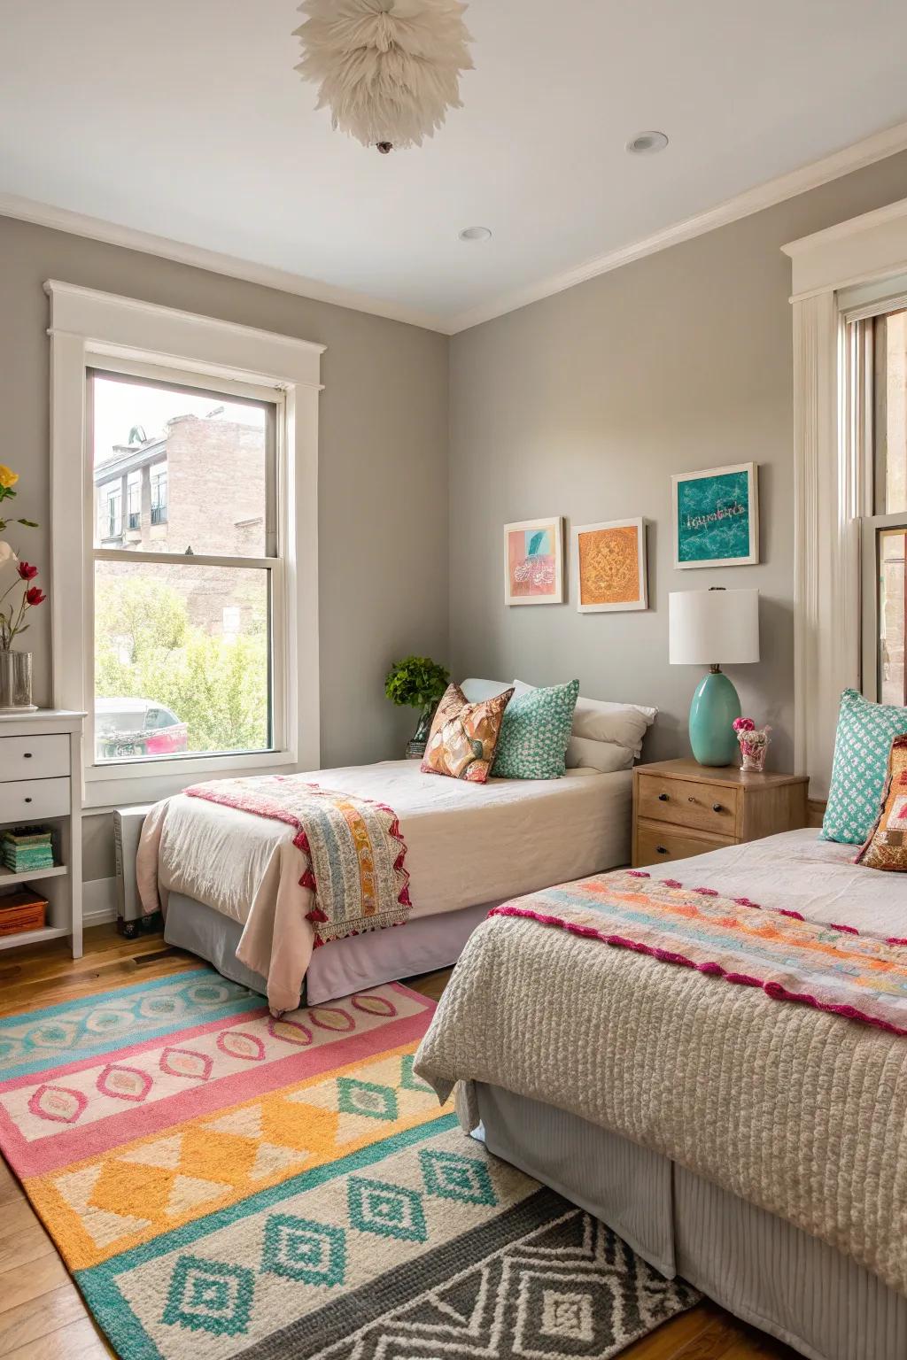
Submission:
[[[321,344],[194,316],[132,298],[48,280],[50,298],[52,641],[56,707],[94,710],[88,691],[94,638],[90,573],[95,529],[91,452],[86,439],[86,371],[99,359],[131,371],[141,364],[283,394],[286,447],[279,449],[280,608],[286,642],[281,687],[286,740],[253,755],[95,766],[86,743],[83,798],[88,808],[167,797],[200,778],[267,774],[320,763],[318,692],[318,393]],[[78,507],[82,507],[79,511]],[[246,566],[249,562],[245,563]]]

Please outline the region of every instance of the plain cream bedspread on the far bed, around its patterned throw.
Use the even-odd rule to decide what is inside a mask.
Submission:
[[[499,902],[628,860],[630,770],[479,785],[422,774],[415,760],[386,760],[301,778],[394,809],[413,917]],[[146,911],[158,900],[166,910],[169,894],[179,892],[238,921],[237,957],[268,978],[272,1009],[286,1010],[299,1002],[311,957],[303,869],[290,827],[178,794],[146,819],[137,879]]]

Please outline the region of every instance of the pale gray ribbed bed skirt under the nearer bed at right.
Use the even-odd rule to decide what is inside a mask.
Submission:
[[[619,1134],[476,1083],[490,1152],[594,1213],[668,1277],[810,1360],[906,1360],[907,1299],[834,1247]]]

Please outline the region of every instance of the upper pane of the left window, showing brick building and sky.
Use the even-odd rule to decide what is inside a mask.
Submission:
[[[90,381],[95,547],[235,558],[272,554],[269,403],[98,373]]]

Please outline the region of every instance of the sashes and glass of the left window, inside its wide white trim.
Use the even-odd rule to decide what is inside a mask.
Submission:
[[[113,488],[94,544],[95,764],[273,752],[283,397],[102,363],[86,373],[92,476]]]

